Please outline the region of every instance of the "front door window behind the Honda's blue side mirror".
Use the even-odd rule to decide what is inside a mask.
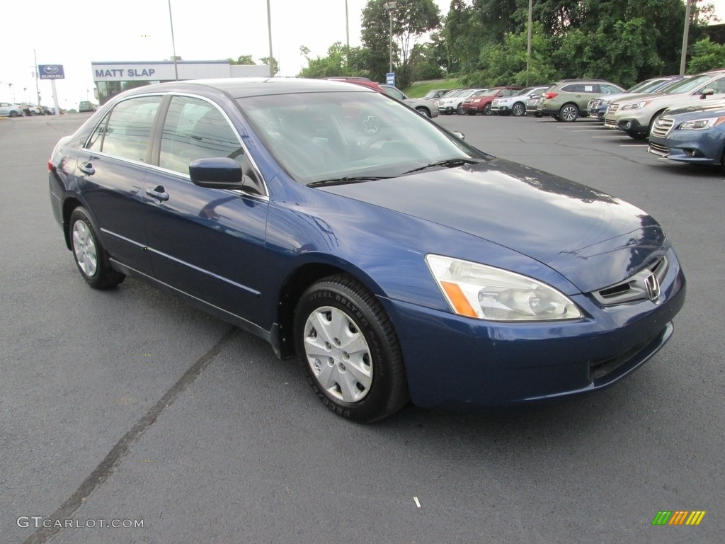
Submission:
[[[188,175],[189,162],[211,157],[229,157],[241,164],[244,151],[236,133],[209,102],[174,96],[164,121],[159,166]]]

